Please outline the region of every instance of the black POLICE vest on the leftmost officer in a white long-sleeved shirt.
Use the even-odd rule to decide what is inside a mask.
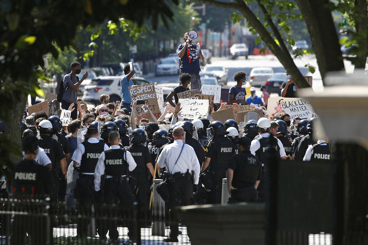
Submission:
[[[94,173],[98,158],[104,150],[105,143],[99,141],[98,143],[90,143],[88,141],[82,142],[84,145],[84,153],[81,160],[82,173]]]

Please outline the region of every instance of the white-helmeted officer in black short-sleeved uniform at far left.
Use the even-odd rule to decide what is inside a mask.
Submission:
[[[51,199],[57,201],[57,194],[59,192],[60,177],[65,178],[67,175],[67,161],[63,151],[62,145],[55,139],[51,138],[52,124],[48,120],[42,120],[38,124],[38,130],[40,131],[40,143],[51,160],[51,183],[54,187]]]

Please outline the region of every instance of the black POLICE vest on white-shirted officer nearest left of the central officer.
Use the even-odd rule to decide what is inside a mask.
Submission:
[[[128,175],[128,163],[124,159],[126,150],[108,149],[105,150],[105,174],[113,177]]]

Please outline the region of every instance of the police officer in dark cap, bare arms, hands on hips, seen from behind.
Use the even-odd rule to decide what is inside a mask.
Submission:
[[[257,187],[261,179],[261,162],[249,150],[252,140],[239,138],[236,143],[240,153],[232,155],[226,173],[229,203],[256,202]]]

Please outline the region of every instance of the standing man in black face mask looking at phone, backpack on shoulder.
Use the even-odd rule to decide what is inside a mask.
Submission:
[[[77,119],[77,95],[79,94],[79,86],[88,77],[88,72],[84,73],[82,79],[79,80],[77,74],[81,73],[81,64],[73,61],[70,65],[72,72],[64,76],[64,95],[62,99],[62,108],[69,109],[69,106],[74,103],[75,110],[72,110],[72,120]],[[68,87],[68,88],[67,88]]]

